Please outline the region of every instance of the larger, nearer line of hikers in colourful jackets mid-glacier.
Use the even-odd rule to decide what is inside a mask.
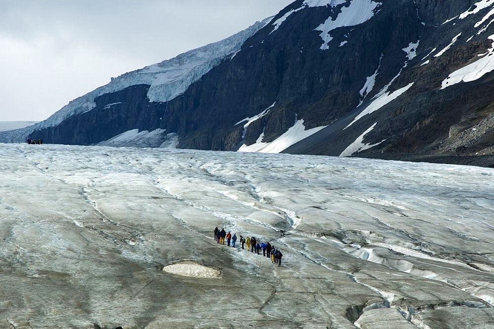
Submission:
[[[215,227],[214,240],[216,240],[216,243],[220,245],[224,245],[226,240],[228,247],[231,246],[235,248],[238,238],[237,233],[232,236],[232,233],[226,233],[224,228],[220,230],[218,229],[218,227]],[[258,255],[260,255],[260,251],[262,250],[262,255],[264,257],[271,258],[272,263],[276,263],[278,264],[278,266],[281,266],[281,258],[283,257],[283,253],[280,249],[272,246],[269,242],[261,242],[259,244],[259,241],[257,241],[255,237],[247,237],[245,239],[243,236],[240,236],[240,244],[242,245],[242,249],[244,249],[244,246],[246,246],[247,251],[250,250],[250,252],[257,253]]]

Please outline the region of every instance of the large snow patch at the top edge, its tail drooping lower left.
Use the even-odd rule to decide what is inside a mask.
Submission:
[[[329,17],[314,29],[321,31],[320,36],[323,39],[323,44],[320,49],[329,49],[328,43],[333,39],[329,32],[340,27],[355,26],[367,22],[374,16],[374,10],[380,4],[381,2],[374,2],[373,0],[353,0],[348,7],[341,7],[341,12],[335,20]]]

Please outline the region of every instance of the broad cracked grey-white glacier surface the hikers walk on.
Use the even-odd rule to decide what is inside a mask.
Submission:
[[[27,144],[0,157],[2,328],[494,325],[493,169]],[[270,241],[283,266],[216,244],[215,226]]]

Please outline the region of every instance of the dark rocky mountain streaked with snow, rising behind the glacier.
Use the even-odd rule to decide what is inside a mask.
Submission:
[[[130,79],[31,129],[64,144],[137,129],[143,145],[204,150],[493,154],[493,22],[493,0],[297,0],[163,98]]]

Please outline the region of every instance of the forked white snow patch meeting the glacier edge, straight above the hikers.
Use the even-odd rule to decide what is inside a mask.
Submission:
[[[257,141],[247,146],[242,145],[238,152],[259,152],[259,153],[280,153],[287,149],[289,146],[315,134],[321,129],[327,126],[316,127],[312,129],[305,130],[304,120],[297,120],[295,124],[289,128],[283,135],[278,137],[272,142],[264,143],[262,139],[264,137],[264,132],[261,133]]]

